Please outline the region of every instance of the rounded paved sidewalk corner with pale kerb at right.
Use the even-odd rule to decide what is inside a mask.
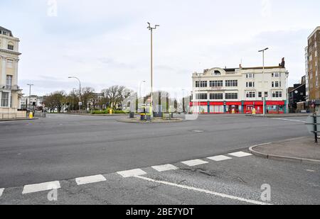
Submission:
[[[320,143],[313,137],[299,137],[282,142],[250,147],[252,154],[268,159],[320,164]]]

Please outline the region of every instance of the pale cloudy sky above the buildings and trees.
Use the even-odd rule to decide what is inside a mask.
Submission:
[[[56,11],[55,11],[56,6]],[[289,83],[304,74],[307,37],[320,26],[319,0],[1,0],[0,26],[21,40],[19,85],[43,95],[114,84],[149,87],[154,32],[154,86],[179,95],[192,72],[262,65],[286,58]]]

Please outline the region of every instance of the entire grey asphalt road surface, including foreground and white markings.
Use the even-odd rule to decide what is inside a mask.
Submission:
[[[201,115],[166,124],[120,118],[52,114],[0,123],[0,204],[320,203],[319,165],[248,150],[311,136],[305,117]],[[265,184],[270,201],[261,198]]]

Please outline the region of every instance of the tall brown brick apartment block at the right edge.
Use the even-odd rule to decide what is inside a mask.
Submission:
[[[319,73],[320,73],[320,27],[309,35],[306,48],[306,77],[308,81],[309,106],[311,102],[320,103]],[[319,111],[320,106],[316,107]]]

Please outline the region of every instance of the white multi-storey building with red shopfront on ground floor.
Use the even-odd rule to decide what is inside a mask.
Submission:
[[[287,113],[284,59],[273,67],[212,68],[194,72],[193,113]]]

